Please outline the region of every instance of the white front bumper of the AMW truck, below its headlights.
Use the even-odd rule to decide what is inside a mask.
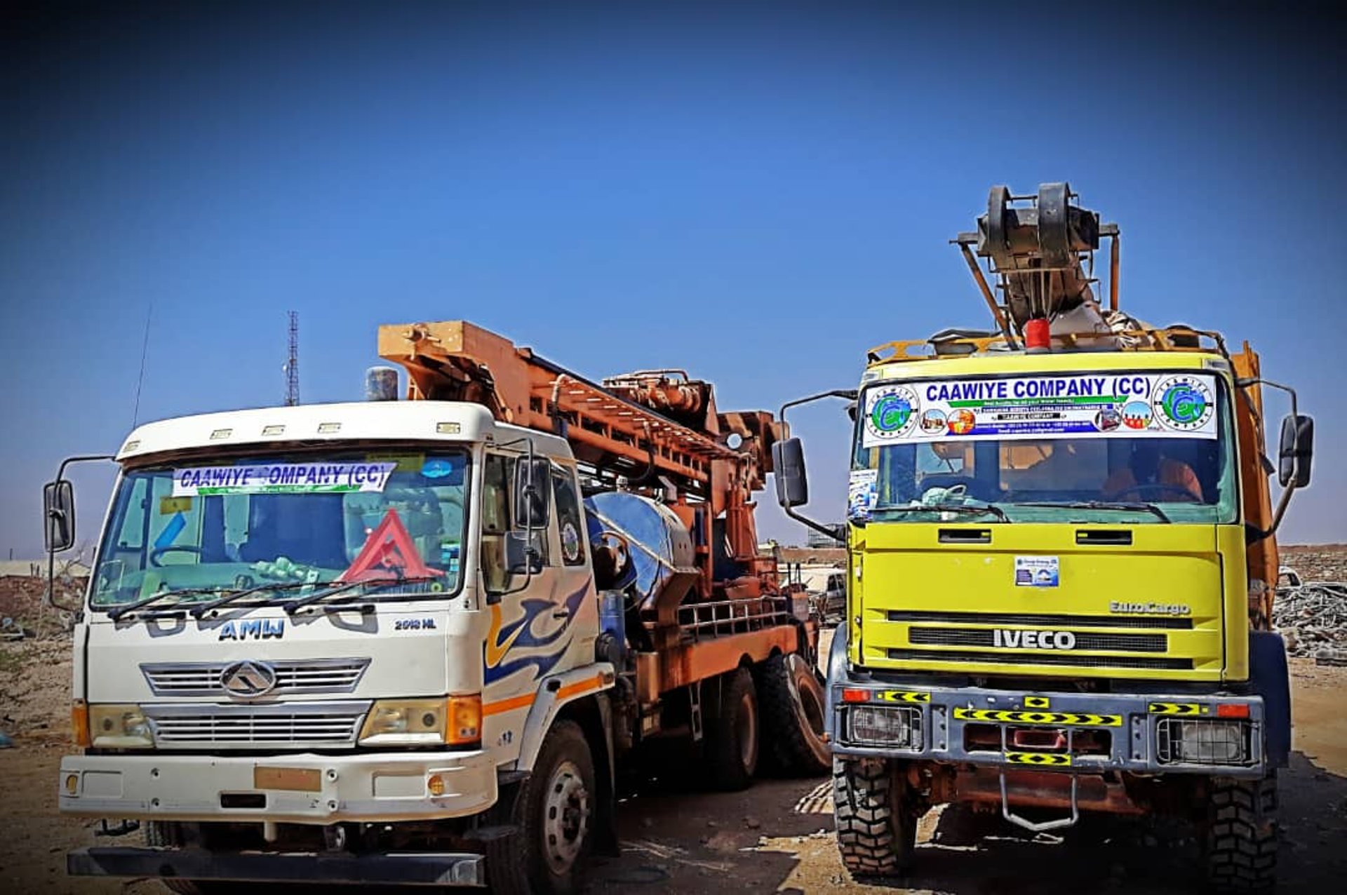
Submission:
[[[432,775],[443,783],[440,795],[430,793]],[[67,755],[57,787],[66,814],[203,822],[463,817],[490,808],[497,797],[496,766],[482,751]]]

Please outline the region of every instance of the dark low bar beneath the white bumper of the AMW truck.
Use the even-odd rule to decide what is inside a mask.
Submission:
[[[365,883],[395,886],[485,886],[481,855],[315,855],[207,852],[199,848],[86,848],[66,856],[71,876],[259,883]]]

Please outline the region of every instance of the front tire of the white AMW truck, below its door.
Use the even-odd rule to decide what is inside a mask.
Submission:
[[[502,793],[502,798],[509,794]],[[486,880],[497,895],[567,895],[582,888],[594,848],[594,758],[575,721],[560,720],[511,801],[517,833],[486,843]]]

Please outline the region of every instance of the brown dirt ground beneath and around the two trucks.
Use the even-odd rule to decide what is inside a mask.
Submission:
[[[1307,659],[1292,665],[1296,754],[1280,778],[1281,891],[1334,891],[1347,876],[1347,669]],[[69,849],[132,844],[96,838],[96,822],[57,814],[57,773],[70,748],[69,685],[69,641],[0,643],[0,729],[13,738],[12,748],[0,750],[0,890],[166,892],[148,880],[65,875]],[[1012,895],[1082,883],[1117,892],[1200,887],[1193,844],[1181,832],[1102,818],[1082,822],[1064,838],[1034,837],[962,809],[924,818],[908,888],[858,886],[836,855],[827,779],[762,781],[734,794],[647,783],[622,799],[620,829],[622,855],[595,861],[594,895],[640,888]]]

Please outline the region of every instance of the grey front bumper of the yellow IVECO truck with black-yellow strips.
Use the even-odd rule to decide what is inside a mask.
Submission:
[[[853,715],[858,709],[892,715]],[[1269,770],[1257,696],[1032,693],[834,678],[828,733],[839,755],[1075,774],[1258,778]]]

